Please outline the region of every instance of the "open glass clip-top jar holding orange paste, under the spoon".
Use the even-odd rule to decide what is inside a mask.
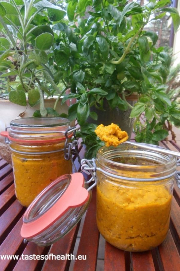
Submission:
[[[128,143],[97,153],[97,226],[125,251],[147,251],[167,235],[176,157]]]

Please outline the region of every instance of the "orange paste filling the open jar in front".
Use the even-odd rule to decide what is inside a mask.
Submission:
[[[112,245],[126,251],[146,251],[162,243],[170,221],[172,195],[165,185],[141,182],[123,187],[97,185],[97,226]]]

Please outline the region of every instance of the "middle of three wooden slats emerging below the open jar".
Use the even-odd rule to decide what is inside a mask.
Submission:
[[[151,251],[132,253],[133,271],[155,271]]]

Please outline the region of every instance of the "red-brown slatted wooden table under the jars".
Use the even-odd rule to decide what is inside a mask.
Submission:
[[[180,147],[171,141],[160,142],[161,146],[180,151]],[[80,157],[84,157],[84,149],[79,145]],[[75,164],[78,166],[77,159]],[[79,168],[79,166],[78,166]],[[179,169],[180,170],[180,169]],[[49,247],[39,247],[34,243],[23,243],[20,236],[22,216],[25,207],[16,200],[14,194],[13,171],[3,159],[0,160],[0,255],[67,255],[73,254],[79,224],[67,235]],[[96,189],[87,210],[77,254],[86,255],[86,260],[75,260],[71,269],[75,271],[93,271],[96,269],[99,248],[99,231],[96,226]],[[0,256],[1,257],[1,256]],[[25,256],[24,256],[25,257]],[[69,257],[69,259],[68,259]],[[17,270],[69,270],[70,257],[65,260],[1,260],[0,271]],[[100,270],[100,269],[99,269]],[[98,270],[98,271],[99,271]],[[101,269],[102,270],[102,269]],[[180,270],[180,190],[175,184],[171,211],[170,229],[167,238],[157,248],[143,253],[129,253],[105,243],[105,271],[179,271]]]

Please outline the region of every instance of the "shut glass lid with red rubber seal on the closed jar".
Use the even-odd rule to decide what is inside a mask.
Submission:
[[[1,132],[10,141],[19,143],[49,143],[65,140],[69,120],[60,117],[31,117],[12,120],[9,132]],[[67,135],[71,137],[72,132]]]

